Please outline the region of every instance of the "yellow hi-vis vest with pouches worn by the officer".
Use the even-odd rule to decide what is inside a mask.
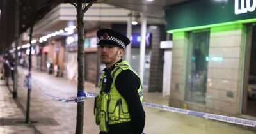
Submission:
[[[99,89],[100,93],[95,98],[95,121],[97,125],[100,125],[100,131],[108,132],[109,124],[124,123],[131,121],[131,116],[129,114],[128,105],[123,96],[118,93],[115,87],[115,79],[119,73],[123,70],[131,70],[136,75],[137,73],[129,66],[127,61],[122,61],[121,63],[116,63],[115,68],[111,71],[111,77],[113,82],[111,84],[110,92],[105,93],[101,91],[102,82],[104,80],[104,75],[100,79]],[[142,96],[142,84],[138,89],[138,94],[140,100],[143,100]]]

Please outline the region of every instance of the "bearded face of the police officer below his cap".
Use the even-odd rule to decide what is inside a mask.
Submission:
[[[100,60],[106,66],[113,66],[123,55],[123,49],[114,45],[100,45]]]

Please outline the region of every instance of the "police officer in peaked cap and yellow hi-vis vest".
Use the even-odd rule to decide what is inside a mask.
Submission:
[[[141,80],[131,66],[122,61],[130,40],[111,29],[100,29],[97,36],[100,60],[106,65],[94,109],[100,134],[141,134],[145,126]]]

